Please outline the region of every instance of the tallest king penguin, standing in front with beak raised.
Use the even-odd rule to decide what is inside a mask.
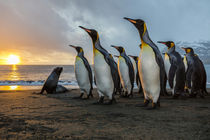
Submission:
[[[144,105],[152,100],[152,108],[159,106],[160,93],[165,92],[165,69],[163,58],[158,47],[152,42],[147,31],[146,23],[141,19],[124,18],[138,29],[141,39],[139,55],[139,75],[144,91]]]

